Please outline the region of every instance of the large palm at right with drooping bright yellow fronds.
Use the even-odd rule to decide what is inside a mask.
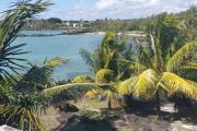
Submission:
[[[123,94],[142,98],[157,98],[160,110],[160,95],[183,94],[196,99],[197,87],[182,75],[182,69],[196,70],[197,41],[176,47],[178,23],[173,15],[162,14],[149,29],[150,43],[137,46],[137,59],[130,61],[136,72],[119,85]],[[189,75],[189,74],[188,74]]]

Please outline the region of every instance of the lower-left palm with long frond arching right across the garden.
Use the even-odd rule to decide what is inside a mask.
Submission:
[[[7,102],[0,105],[1,119],[22,130],[45,130],[37,114],[47,106],[56,106],[61,102],[76,99],[91,90],[111,90],[103,83],[72,83],[55,87],[45,87],[46,78],[49,82],[53,69],[65,63],[65,60],[55,58],[46,60],[40,66],[33,66],[15,84],[0,86],[3,91],[1,99]],[[1,84],[2,85],[2,84]],[[4,88],[7,87],[7,88]]]

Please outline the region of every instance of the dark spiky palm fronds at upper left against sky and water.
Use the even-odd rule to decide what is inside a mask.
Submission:
[[[0,24],[0,78],[5,80],[12,78],[11,73],[18,73],[23,70],[24,66],[20,66],[19,61],[24,59],[15,59],[14,56],[26,53],[21,47],[24,44],[12,46],[12,41],[18,37],[19,32],[27,20],[32,19],[46,10],[50,5],[49,2],[38,0],[35,3],[20,2],[15,3],[11,10],[4,12],[4,20]],[[9,70],[9,71],[8,71]]]

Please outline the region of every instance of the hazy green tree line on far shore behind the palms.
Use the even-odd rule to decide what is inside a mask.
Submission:
[[[197,8],[192,7],[189,10],[185,12],[171,14],[171,15],[175,15],[179,22],[182,21],[185,33],[189,34],[189,32],[192,31],[193,32],[192,34],[195,35],[196,22],[197,22],[196,13],[197,13]],[[96,20],[93,24],[91,24],[90,28],[94,32],[146,31],[147,24],[154,21],[159,15],[153,15],[146,19],[134,19],[134,20],[108,20],[108,19]]]

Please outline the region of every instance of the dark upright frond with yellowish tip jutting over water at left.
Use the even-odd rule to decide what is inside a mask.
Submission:
[[[21,92],[37,92],[50,86],[54,69],[66,64],[68,59],[59,57],[45,60],[42,64],[31,64],[30,70],[18,81],[15,88]]]

